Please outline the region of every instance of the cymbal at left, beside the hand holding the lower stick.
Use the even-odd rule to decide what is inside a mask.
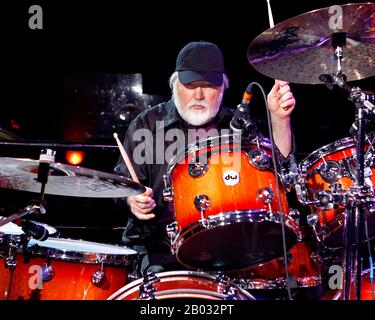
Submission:
[[[0,188],[36,192],[39,161],[0,158]],[[116,174],[51,163],[45,194],[73,197],[120,198],[145,192],[141,184]]]

